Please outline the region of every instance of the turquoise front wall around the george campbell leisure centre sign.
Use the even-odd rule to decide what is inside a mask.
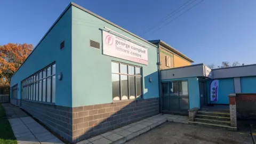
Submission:
[[[96,105],[112,101],[111,61],[142,67],[143,98],[159,97],[157,48],[93,15],[72,6],[72,106]],[[148,66],[102,54],[102,30],[108,27],[150,46]],[[90,47],[90,39],[100,43],[100,50]],[[148,78],[153,78],[149,83]]]

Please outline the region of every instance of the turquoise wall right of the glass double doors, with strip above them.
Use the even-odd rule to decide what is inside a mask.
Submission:
[[[165,79],[162,82],[171,82],[171,81],[188,81],[188,94],[189,94],[189,108],[200,108],[200,94],[199,94],[199,83],[197,77],[187,77],[187,78],[178,78],[178,79]]]

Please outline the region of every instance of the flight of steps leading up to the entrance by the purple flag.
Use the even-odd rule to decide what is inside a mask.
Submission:
[[[197,111],[195,121],[189,124],[236,130],[236,127],[230,126],[230,114],[222,111]]]

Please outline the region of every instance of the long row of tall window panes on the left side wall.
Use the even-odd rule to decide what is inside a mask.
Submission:
[[[55,63],[22,81],[22,99],[55,102]]]

